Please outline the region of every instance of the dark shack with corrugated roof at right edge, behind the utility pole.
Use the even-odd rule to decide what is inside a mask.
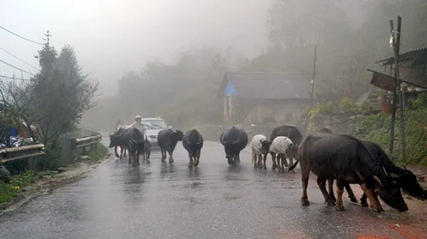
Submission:
[[[381,63],[384,71],[394,75],[394,57],[387,57],[377,60]],[[388,69],[389,68],[389,69]],[[427,88],[427,46],[402,52],[399,54],[400,77],[404,82],[413,87]],[[405,87],[406,88],[406,87]]]

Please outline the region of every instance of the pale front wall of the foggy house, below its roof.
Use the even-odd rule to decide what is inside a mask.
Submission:
[[[263,102],[249,111],[243,123],[300,123],[307,101]]]

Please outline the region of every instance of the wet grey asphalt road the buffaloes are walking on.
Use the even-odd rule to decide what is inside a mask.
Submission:
[[[326,206],[313,177],[311,205],[302,207],[299,169],[272,172],[270,157],[267,170],[253,169],[244,150],[231,167],[214,142],[195,169],[181,142],[174,156],[162,165],[156,150],[150,165],[132,168],[112,155],[79,182],[0,217],[0,238],[404,238],[347,194],[346,211]]]

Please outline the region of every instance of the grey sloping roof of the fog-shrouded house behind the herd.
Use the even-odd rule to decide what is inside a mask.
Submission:
[[[235,94],[246,99],[310,99],[311,77],[284,72],[226,72],[218,98]]]

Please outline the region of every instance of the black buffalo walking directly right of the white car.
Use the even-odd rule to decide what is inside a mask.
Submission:
[[[166,153],[169,153],[169,163],[174,162],[172,153],[175,150],[176,143],[181,141],[184,133],[181,130],[164,129],[157,134],[157,143],[159,143],[162,152],[162,162],[166,160]]]

